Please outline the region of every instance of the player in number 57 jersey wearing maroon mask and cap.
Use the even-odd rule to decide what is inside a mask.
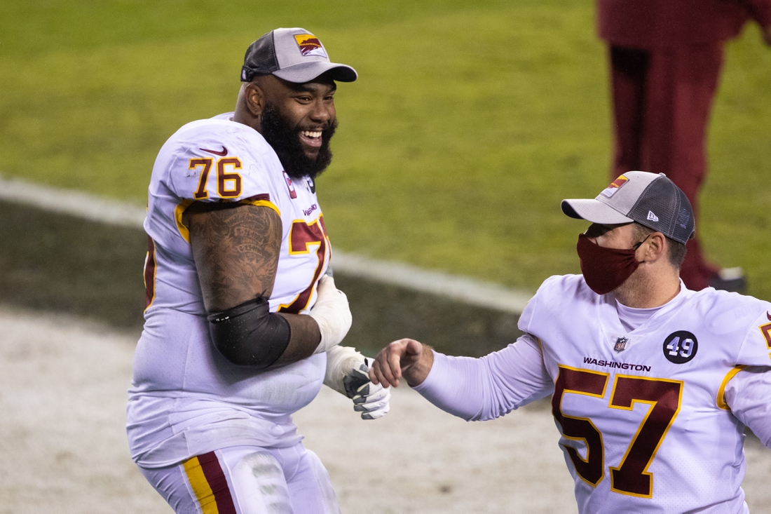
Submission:
[[[693,213],[663,174],[631,171],[562,210],[592,223],[578,236],[583,275],[540,286],[524,336],[481,359],[395,341],[372,382],[403,377],[474,421],[551,395],[582,514],[749,512],[745,426],[771,445],[771,303],[685,288]]]

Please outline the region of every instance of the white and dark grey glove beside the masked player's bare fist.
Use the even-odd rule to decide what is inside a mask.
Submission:
[[[327,350],[324,384],[353,400],[362,419],[382,418],[390,409],[391,389],[369,381],[369,360],[352,347]]]

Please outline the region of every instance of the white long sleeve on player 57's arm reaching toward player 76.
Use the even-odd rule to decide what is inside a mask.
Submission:
[[[434,352],[431,371],[415,390],[443,411],[480,421],[499,418],[551,394],[554,383],[537,340],[525,334],[480,359]]]

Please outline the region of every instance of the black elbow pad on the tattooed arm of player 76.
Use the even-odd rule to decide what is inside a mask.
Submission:
[[[288,347],[291,332],[288,321],[268,309],[268,299],[258,296],[210,314],[207,320],[214,347],[238,366],[269,367]]]

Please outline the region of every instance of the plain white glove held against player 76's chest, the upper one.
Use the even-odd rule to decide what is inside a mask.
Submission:
[[[351,309],[348,308],[348,297],[335,287],[332,276],[322,276],[318,281],[318,297],[311,307],[311,316],[318,323],[322,333],[322,342],[313,353],[322,353],[342,341],[351,328]]]

